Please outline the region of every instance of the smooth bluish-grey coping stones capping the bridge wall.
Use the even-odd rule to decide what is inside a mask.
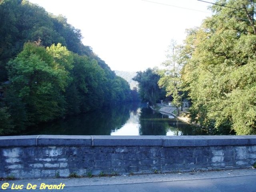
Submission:
[[[256,135],[241,136],[2,136],[0,147],[21,146],[221,146],[256,145]]]

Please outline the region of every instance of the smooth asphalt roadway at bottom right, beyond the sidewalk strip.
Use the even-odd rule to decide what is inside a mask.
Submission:
[[[256,192],[256,176],[67,187],[66,192]]]

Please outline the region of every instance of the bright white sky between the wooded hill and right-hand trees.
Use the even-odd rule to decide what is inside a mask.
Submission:
[[[198,0],[29,0],[80,29],[111,70],[160,67],[171,40],[182,44],[186,29],[211,16]],[[214,2],[213,0],[207,0]]]

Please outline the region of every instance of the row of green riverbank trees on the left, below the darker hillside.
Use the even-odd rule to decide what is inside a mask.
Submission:
[[[11,84],[6,105],[19,130],[101,108],[107,100],[105,82],[111,82],[111,102],[131,99],[127,81],[118,76],[108,79],[96,60],[74,54],[61,44],[46,49],[25,44],[23,51],[9,61],[8,71]]]

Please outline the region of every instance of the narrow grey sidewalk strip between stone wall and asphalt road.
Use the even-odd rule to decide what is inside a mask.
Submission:
[[[210,172],[187,172],[187,173],[169,173],[169,174],[150,174],[150,175],[122,175],[113,177],[92,177],[92,178],[56,178],[56,179],[30,179],[15,181],[0,181],[0,185],[5,182],[14,182],[15,184],[32,183],[38,186],[41,183],[59,184],[65,183],[66,187],[72,186],[105,186],[105,185],[125,185],[139,183],[159,183],[184,180],[205,180],[227,177],[256,176],[256,169],[235,169]]]

